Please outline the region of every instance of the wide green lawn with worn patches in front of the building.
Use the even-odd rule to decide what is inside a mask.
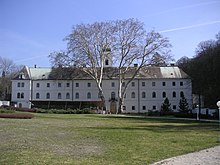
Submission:
[[[218,145],[218,123],[34,114],[0,118],[0,164],[150,164]]]

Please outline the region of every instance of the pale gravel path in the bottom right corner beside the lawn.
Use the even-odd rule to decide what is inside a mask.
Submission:
[[[152,165],[220,165],[220,146],[165,159]]]

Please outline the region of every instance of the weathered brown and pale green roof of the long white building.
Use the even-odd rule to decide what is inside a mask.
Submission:
[[[39,79],[91,79],[91,77],[83,71],[89,68],[29,68],[24,67],[20,73],[25,74],[25,79],[39,80]],[[129,79],[136,71],[137,67],[129,68],[125,78]],[[115,79],[118,75],[118,69],[115,67],[104,68],[104,79]],[[136,79],[160,79],[160,78],[189,78],[177,66],[146,66],[140,69],[135,76]],[[18,79],[15,77],[14,79]]]

